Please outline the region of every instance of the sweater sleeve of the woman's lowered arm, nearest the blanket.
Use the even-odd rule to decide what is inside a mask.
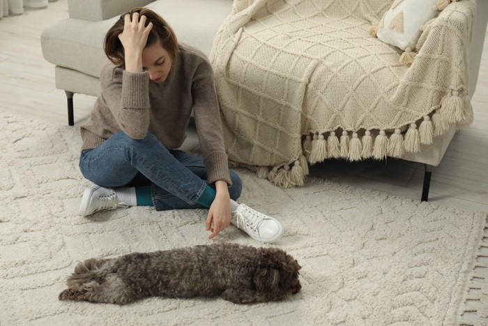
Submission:
[[[213,183],[223,180],[231,185],[220,108],[213,82],[213,71],[208,61],[201,61],[197,66],[192,81],[192,98],[195,124],[208,181]]]

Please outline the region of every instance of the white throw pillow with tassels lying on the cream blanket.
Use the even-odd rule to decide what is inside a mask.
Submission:
[[[402,50],[415,50],[420,27],[439,15],[439,0],[396,0],[379,22],[379,40]]]

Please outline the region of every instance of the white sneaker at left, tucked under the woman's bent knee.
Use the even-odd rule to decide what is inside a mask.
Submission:
[[[79,207],[79,215],[88,216],[98,211],[116,209],[117,207],[127,208],[129,205],[118,200],[117,193],[114,189],[92,184],[83,193],[82,205]]]

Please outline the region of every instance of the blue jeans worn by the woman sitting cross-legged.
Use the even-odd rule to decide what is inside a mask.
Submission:
[[[184,151],[169,151],[153,134],[135,140],[122,131],[79,158],[82,175],[99,186],[151,186],[155,209],[205,208],[197,200],[207,185],[204,161]],[[241,195],[242,181],[229,170],[231,199]]]

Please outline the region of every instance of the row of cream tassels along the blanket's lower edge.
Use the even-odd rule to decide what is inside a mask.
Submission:
[[[471,99],[466,87],[453,89],[441,100],[441,105],[419,121],[409,124],[406,131],[387,130],[312,131],[304,135],[302,153],[295,161],[275,167],[254,166],[257,176],[272,181],[282,188],[302,186],[309,174],[308,165],[321,163],[329,158],[361,161],[367,158],[383,160],[386,156],[402,158],[407,153],[417,153],[420,145],[431,145],[433,138],[450,128],[461,128],[473,121]],[[340,138],[337,137],[340,132]],[[390,135],[387,135],[387,132]],[[241,164],[241,166],[247,166]]]

